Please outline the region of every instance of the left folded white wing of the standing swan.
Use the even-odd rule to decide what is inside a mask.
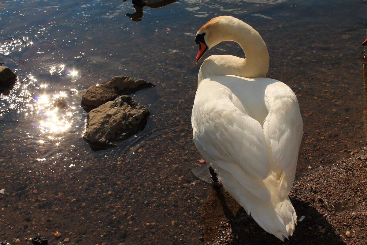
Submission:
[[[237,109],[228,96],[201,106],[193,110],[192,120],[200,153],[231,173],[252,194],[269,200],[269,190],[259,184],[269,174],[269,155],[261,125]]]

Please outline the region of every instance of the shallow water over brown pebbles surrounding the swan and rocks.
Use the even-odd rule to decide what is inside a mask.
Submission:
[[[268,77],[298,96],[297,176],[366,142],[358,60],[366,1],[182,0],[143,7],[141,21],[126,16],[135,12],[129,1],[4,1],[0,10],[0,63],[19,79],[0,96],[0,240],[41,233],[53,241],[59,231],[61,241],[80,244],[201,243],[210,187],[190,175],[201,159],[190,124],[200,67],[194,39],[218,15],[259,31]],[[243,56],[230,42],[209,54]],[[117,75],[156,85],[133,95],[151,116],[129,140],[94,152],[82,138],[81,94]],[[68,108],[55,111],[60,98]]]

